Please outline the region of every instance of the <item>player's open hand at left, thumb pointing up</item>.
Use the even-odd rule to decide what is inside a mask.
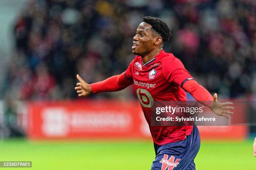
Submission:
[[[77,90],[78,96],[81,97],[90,95],[92,93],[91,85],[85,82],[79,75],[77,75],[77,79],[79,82],[77,83],[75,90]]]

